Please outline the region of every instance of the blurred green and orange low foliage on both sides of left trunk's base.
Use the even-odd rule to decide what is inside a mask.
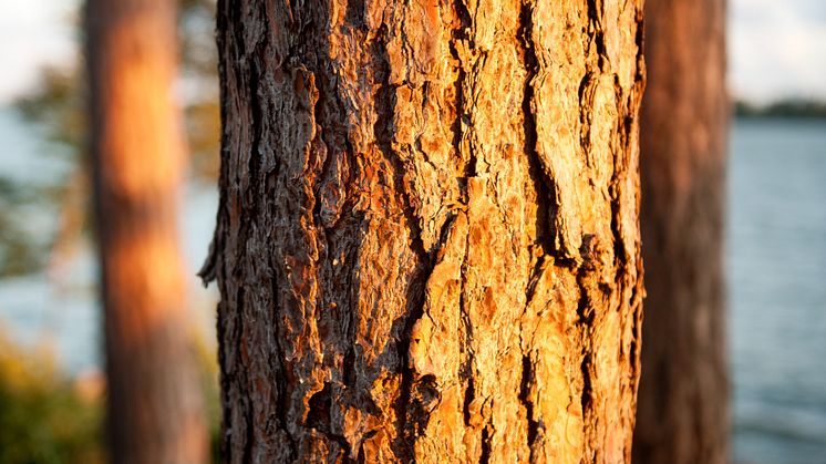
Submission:
[[[219,462],[218,363],[206,337],[193,338],[210,447]],[[48,350],[21,349],[0,333],[0,464],[105,462],[104,390],[100,374],[72,380]]]

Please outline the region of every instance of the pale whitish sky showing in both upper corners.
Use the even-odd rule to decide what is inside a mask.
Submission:
[[[662,0],[649,0],[662,1]],[[729,87],[765,103],[826,100],[826,0],[729,0]],[[0,0],[0,104],[32,89],[40,68],[76,56],[78,0]]]

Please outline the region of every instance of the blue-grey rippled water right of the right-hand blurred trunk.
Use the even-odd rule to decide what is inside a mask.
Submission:
[[[735,461],[826,463],[826,123],[734,125],[726,236]]]

